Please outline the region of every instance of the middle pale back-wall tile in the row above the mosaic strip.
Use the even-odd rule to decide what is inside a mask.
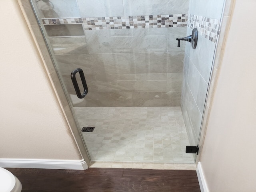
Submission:
[[[123,16],[122,0],[78,0],[81,17]]]

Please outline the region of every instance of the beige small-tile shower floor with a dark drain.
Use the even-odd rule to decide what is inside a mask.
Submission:
[[[194,164],[180,107],[74,107],[92,161]]]

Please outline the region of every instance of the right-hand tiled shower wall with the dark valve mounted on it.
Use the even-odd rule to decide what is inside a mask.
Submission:
[[[197,145],[224,0],[190,0],[187,35],[198,29],[196,49],[186,44],[181,108],[191,145]]]

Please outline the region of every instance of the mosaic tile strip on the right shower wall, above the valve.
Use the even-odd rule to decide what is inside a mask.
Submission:
[[[197,28],[200,35],[216,43],[220,32],[220,20],[189,14],[188,28]]]

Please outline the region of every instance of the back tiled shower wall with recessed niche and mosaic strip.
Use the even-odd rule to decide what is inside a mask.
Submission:
[[[84,70],[89,92],[74,106],[180,106],[188,0],[77,2],[67,15],[61,0],[38,5],[69,94],[71,71]]]

